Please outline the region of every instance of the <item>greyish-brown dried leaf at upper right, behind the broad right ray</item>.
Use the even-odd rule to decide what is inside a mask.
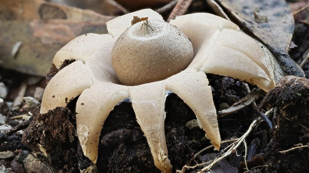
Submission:
[[[276,55],[286,74],[304,76],[288,54],[294,32],[294,18],[285,0],[216,1]],[[254,9],[260,11],[259,15],[254,14]]]

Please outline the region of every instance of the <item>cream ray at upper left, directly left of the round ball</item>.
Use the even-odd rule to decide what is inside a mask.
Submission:
[[[59,68],[66,59],[81,60],[91,70],[93,80],[119,83],[111,62],[112,47],[116,40],[109,34],[83,34],[62,47],[53,63]]]

